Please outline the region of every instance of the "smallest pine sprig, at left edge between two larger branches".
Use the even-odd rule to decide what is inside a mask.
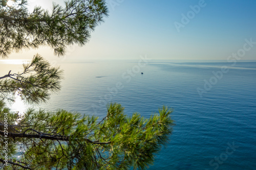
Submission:
[[[14,101],[15,95],[18,94],[27,102],[46,102],[52,92],[60,89],[62,71],[58,67],[51,67],[50,63],[38,54],[31,63],[24,64],[23,67],[23,72],[9,72],[0,78],[0,99]]]

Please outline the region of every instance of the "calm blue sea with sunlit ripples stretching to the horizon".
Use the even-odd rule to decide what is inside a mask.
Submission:
[[[1,76],[22,60],[0,60]],[[61,90],[40,107],[106,115],[119,103],[131,116],[150,117],[162,106],[175,120],[169,142],[148,169],[256,169],[256,61],[60,61]],[[142,74],[143,72],[143,74]],[[1,77],[0,76],[0,77]],[[18,101],[18,100],[17,100]],[[24,110],[24,101],[10,106]]]

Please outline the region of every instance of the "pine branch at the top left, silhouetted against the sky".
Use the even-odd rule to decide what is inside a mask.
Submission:
[[[35,7],[29,13],[27,0],[11,7],[0,6],[0,56],[24,48],[50,46],[54,54],[65,54],[66,45],[84,45],[91,32],[108,15],[104,1],[71,0],[63,8],[53,4],[52,11]]]

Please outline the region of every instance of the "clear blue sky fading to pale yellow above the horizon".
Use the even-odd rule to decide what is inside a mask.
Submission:
[[[30,8],[51,9],[62,0],[29,0]],[[86,45],[67,48],[65,59],[241,60],[256,59],[256,1],[106,0],[109,17],[96,27]],[[250,42],[248,44],[248,42]],[[249,50],[243,51],[247,43]],[[242,50],[241,50],[242,49]],[[57,58],[50,48],[12,54],[31,59],[39,53]]]

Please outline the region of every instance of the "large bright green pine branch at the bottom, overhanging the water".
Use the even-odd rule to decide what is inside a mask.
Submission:
[[[0,105],[0,111],[4,109]],[[163,107],[150,118],[138,113],[128,117],[121,105],[111,104],[99,121],[98,117],[64,110],[28,110],[21,118],[8,111],[11,123],[12,117],[20,119],[13,126],[16,137],[9,140],[12,159],[19,150],[16,143],[21,142],[25,151],[21,162],[31,169],[145,169],[153,164],[154,155],[172,132],[171,112]]]

